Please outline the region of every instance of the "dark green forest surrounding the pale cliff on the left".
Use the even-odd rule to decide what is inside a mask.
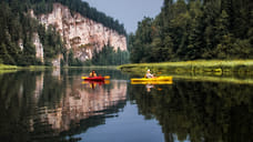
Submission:
[[[45,29],[44,26],[28,14],[30,9],[33,9],[36,14],[51,12],[54,2],[69,7],[71,12],[80,12],[84,17],[98,21],[121,34],[126,34],[124,26],[119,23],[118,20],[97,11],[95,8],[91,8],[81,0],[1,0],[0,64],[52,65],[52,59],[62,53],[64,59],[61,64],[83,65],[82,62],[73,58],[71,51],[67,51],[64,41],[62,41],[54,27]],[[43,45],[44,63],[36,58],[36,47],[32,42],[34,33],[39,34]],[[23,49],[20,48],[20,41]],[[71,59],[68,59],[69,57]]]

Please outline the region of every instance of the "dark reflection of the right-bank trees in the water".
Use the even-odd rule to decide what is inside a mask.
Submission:
[[[148,93],[132,85],[130,98],[146,119],[159,120],[168,142],[174,134],[192,142],[253,140],[252,85],[176,81],[159,88]]]

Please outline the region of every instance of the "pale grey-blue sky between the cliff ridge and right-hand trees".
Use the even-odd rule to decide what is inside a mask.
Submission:
[[[138,22],[144,17],[155,18],[163,0],[83,0],[98,11],[104,12],[124,24],[126,32],[135,32]]]

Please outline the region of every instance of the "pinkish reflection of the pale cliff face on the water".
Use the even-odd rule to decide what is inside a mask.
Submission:
[[[108,109],[119,105],[126,98],[125,82],[114,82],[110,87],[105,89],[101,85],[91,90],[75,81],[67,89],[65,97],[55,109],[45,108],[40,112],[41,121],[50,124],[54,131],[62,132],[77,126],[81,120],[104,114]]]

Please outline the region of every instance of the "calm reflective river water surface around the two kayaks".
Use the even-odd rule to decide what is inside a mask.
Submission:
[[[90,69],[0,74],[1,142],[252,142],[253,84],[174,79],[104,83]]]

